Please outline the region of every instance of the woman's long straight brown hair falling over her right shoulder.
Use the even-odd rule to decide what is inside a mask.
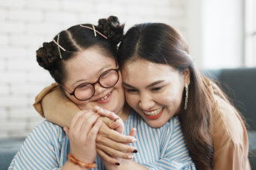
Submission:
[[[163,23],[133,26],[120,43],[117,60],[122,67],[136,59],[168,64],[180,72],[189,68],[188,107],[184,110],[184,91],[181,110],[176,114],[182,122],[185,144],[196,168],[213,168],[213,90],[210,81],[194,68],[185,41],[175,29]]]

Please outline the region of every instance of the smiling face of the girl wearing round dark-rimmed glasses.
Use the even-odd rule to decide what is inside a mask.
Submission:
[[[120,72],[119,80],[114,87],[104,88],[99,83],[95,83],[99,80],[99,76],[106,72],[106,70],[116,68],[115,59],[108,56],[106,50],[97,46],[77,53],[76,56],[64,63],[64,69],[67,73],[64,83],[67,97],[75,104],[78,104],[81,110],[89,110],[95,106],[99,106],[119,114],[124,104],[122,76]],[[89,100],[78,100],[69,94],[82,83],[95,83],[95,94]]]

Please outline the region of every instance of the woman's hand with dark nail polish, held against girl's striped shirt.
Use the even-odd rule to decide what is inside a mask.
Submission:
[[[137,153],[137,149],[127,144],[136,141],[134,138],[136,129],[131,130],[130,136],[121,134],[124,124],[120,117],[99,107],[95,107],[95,111],[105,117],[102,121],[107,124],[102,125],[96,138],[97,152],[102,160],[119,165],[118,158],[132,159],[132,153]]]

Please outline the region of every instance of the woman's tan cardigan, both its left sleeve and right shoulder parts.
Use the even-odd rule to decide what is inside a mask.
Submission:
[[[45,113],[42,100],[44,107],[47,107],[44,108]],[[251,169],[248,160],[247,131],[240,115],[220,97],[216,96],[216,103],[220,111],[213,111],[213,169]],[[57,83],[43,89],[37,95],[33,106],[42,117],[61,126],[68,126],[71,117],[78,112],[78,107],[64,96]]]

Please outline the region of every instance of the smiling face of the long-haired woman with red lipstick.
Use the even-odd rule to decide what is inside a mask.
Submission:
[[[166,64],[146,59],[127,62],[123,66],[123,87],[127,103],[152,128],[163,126],[181,109],[189,69],[180,73]]]

